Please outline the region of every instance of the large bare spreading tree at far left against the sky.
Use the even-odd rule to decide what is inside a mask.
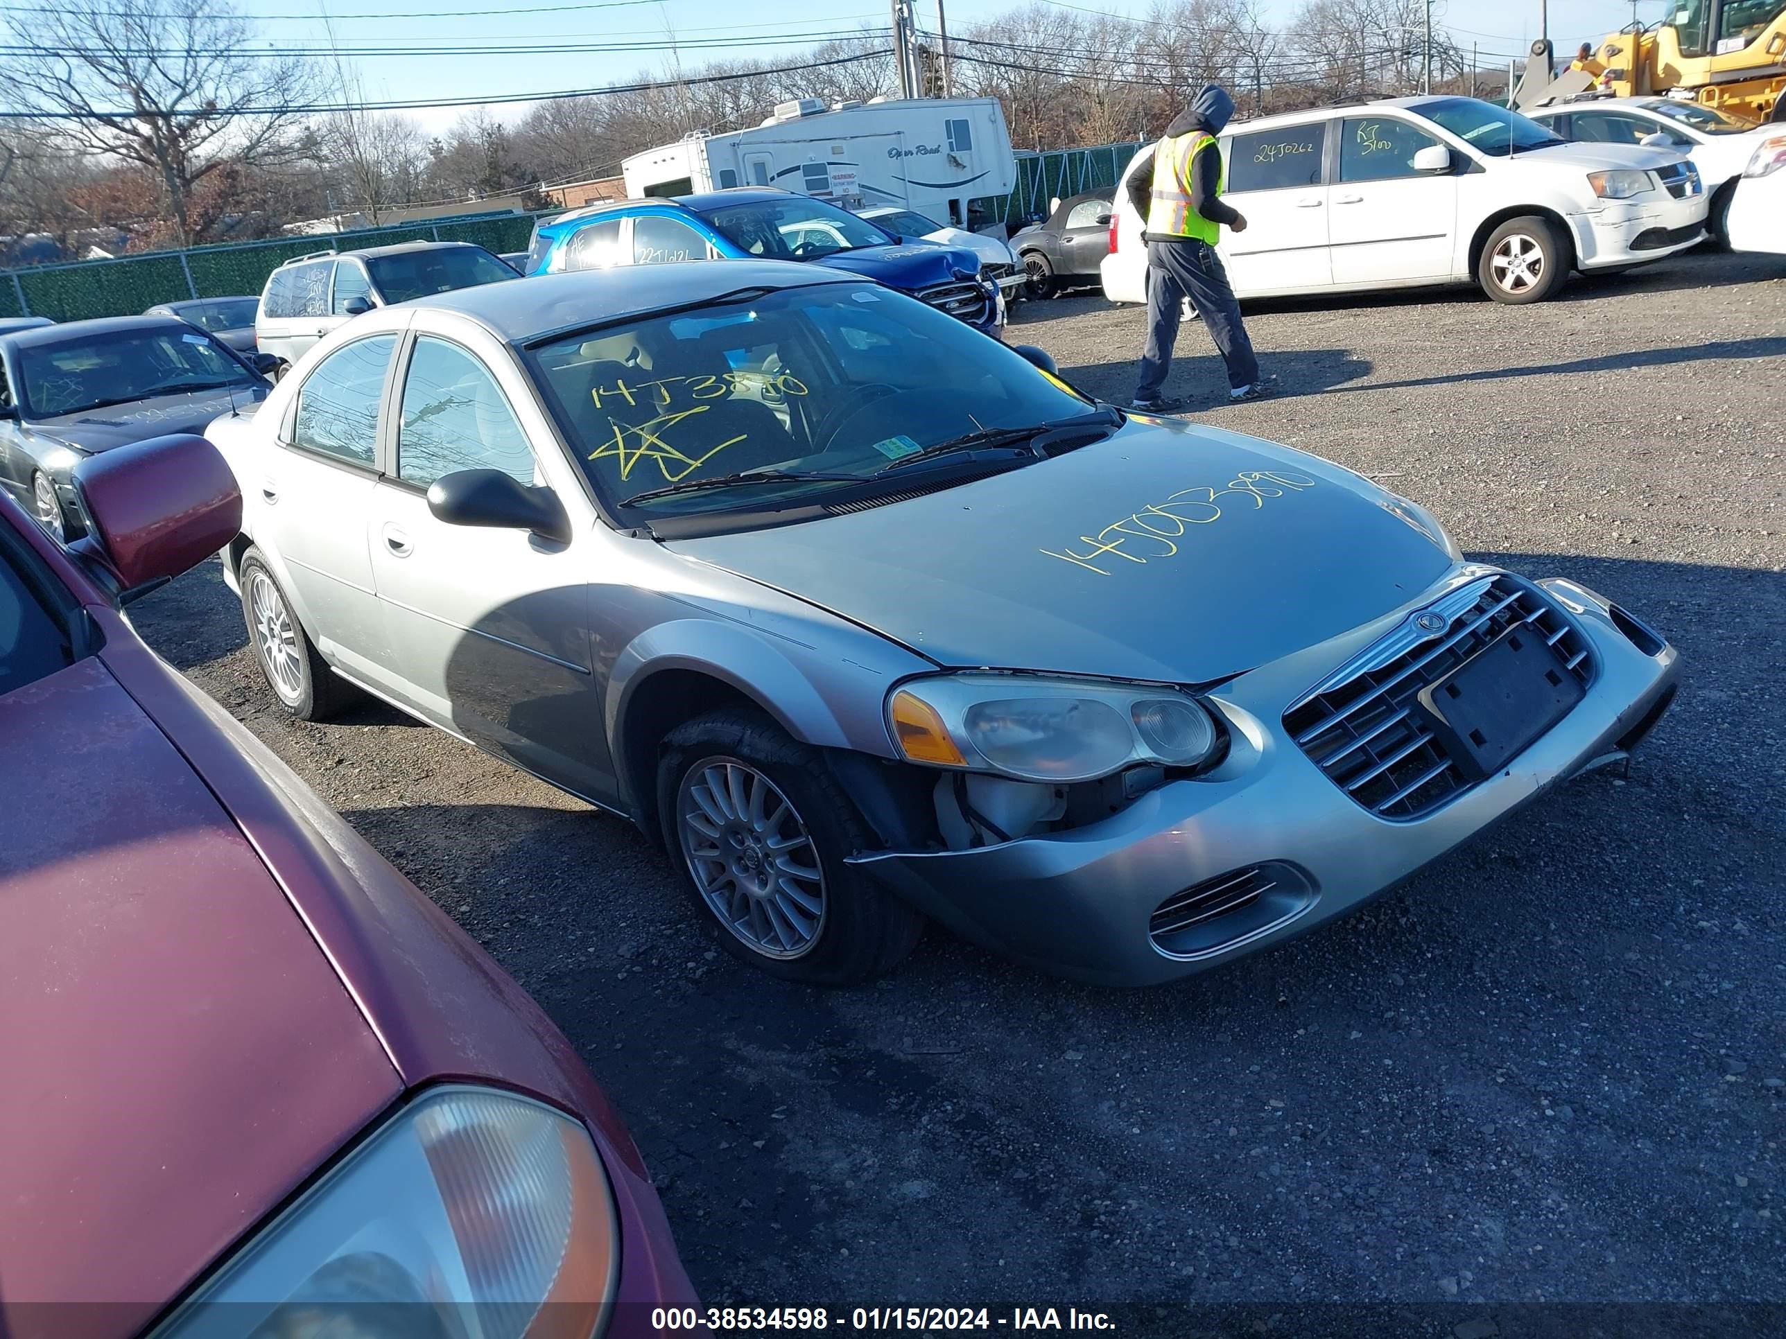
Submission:
[[[227,0],[61,0],[5,23],[21,48],[0,61],[14,105],[152,171],[180,245],[204,239],[193,198],[209,175],[302,152],[313,80],[300,61],[250,55]]]

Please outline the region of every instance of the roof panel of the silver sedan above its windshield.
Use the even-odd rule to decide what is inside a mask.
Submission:
[[[793,261],[673,261],[479,284],[429,298],[411,298],[404,305],[464,312],[507,343],[523,345],[539,336],[597,321],[670,307],[695,307],[739,289],[848,282],[870,280]]]

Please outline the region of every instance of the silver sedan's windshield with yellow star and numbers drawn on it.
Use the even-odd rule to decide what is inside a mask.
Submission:
[[[761,505],[870,478],[925,446],[1093,412],[934,307],[872,284],[752,293],[530,350],[609,503],[741,471],[822,471],[650,498],[654,514]]]

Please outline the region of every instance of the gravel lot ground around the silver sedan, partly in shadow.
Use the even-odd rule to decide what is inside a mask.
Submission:
[[[286,721],[216,564],[134,616],[579,1043],[709,1303],[1786,1300],[1786,262],[1248,327],[1277,400],[1216,407],[1198,327],[1168,391],[1616,596],[1688,686],[1629,775],[1181,986],[938,932],[868,989],[779,984],[625,823],[382,707]],[[1013,337],[1127,400],[1141,314]]]

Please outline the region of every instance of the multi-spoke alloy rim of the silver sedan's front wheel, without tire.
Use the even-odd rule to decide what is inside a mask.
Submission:
[[[682,859],[709,911],[764,957],[811,952],[825,925],[825,873],[786,794],[734,757],[709,757],[677,791]]]

